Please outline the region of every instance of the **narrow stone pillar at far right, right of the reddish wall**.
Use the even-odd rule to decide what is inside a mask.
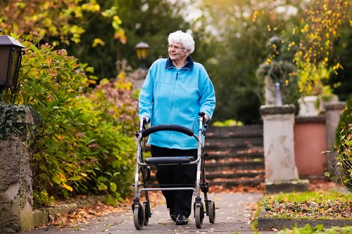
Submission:
[[[327,132],[327,150],[331,153],[327,153],[328,171],[333,173],[330,164],[334,164],[337,158],[337,152],[334,152],[335,134],[337,125],[339,124],[341,110],[346,106],[346,102],[331,102],[325,103],[325,127]]]

